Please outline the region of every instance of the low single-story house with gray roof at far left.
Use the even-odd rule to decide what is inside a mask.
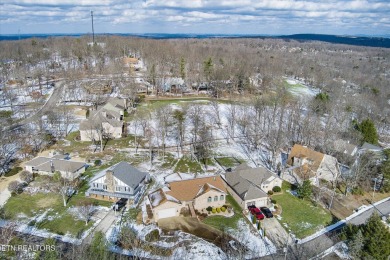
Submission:
[[[63,178],[74,180],[85,171],[85,162],[76,162],[67,155],[54,155],[53,157],[39,156],[25,163],[24,168],[31,173],[53,175],[59,172]]]

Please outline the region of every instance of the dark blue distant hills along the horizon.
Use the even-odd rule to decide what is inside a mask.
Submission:
[[[80,37],[89,34],[21,34],[21,35],[0,35],[0,41],[5,40],[18,40],[28,38],[48,38],[48,37]],[[254,34],[166,34],[166,33],[145,33],[145,34],[132,34],[132,33],[112,33],[112,34],[99,34],[102,35],[119,35],[129,37],[141,37],[150,39],[207,39],[207,38],[260,38],[260,39],[284,39],[297,40],[300,42],[306,41],[322,41],[337,44],[348,44],[356,46],[367,47],[382,47],[390,48],[390,35],[384,37],[371,37],[371,36],[340,36],[340,35],[326,35],[326,34],[293,34],[293,35],[254,35]]]

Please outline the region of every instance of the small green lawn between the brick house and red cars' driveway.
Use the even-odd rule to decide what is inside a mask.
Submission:
[[[231,195],[226,196],[226,202],[233,207],[234,215],[232,217],[209,216],[203,220],[203,223],[222,231],[226,228],[236,229],[238,221],[243,219],[242,209]]]

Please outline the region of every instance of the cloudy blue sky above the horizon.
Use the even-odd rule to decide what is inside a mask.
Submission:
[[[0,34],[390,35],[390,0],[1,0]]]

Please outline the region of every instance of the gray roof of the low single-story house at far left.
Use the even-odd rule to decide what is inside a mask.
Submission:
[[[54,166],[54,171],[61,172],[76,172],[79,169],[85,167],[83,162],[75,162],[70,160],[48,158],[48,157],[37,157],[27,162],[26,166],[33,166],[38,171],[51,172],[51,165]]]

